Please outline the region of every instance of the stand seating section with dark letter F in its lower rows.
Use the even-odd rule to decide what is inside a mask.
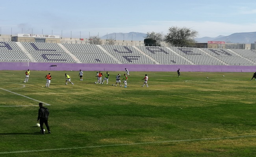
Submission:
[[[156,64],[133,46],[101,45],[123,64]]]

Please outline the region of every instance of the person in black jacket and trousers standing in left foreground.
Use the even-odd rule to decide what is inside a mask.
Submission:
[[[49,116],[48,108],[45,108],[43,106],[42,102],[39,103],[39,107],[40,108],[38,110],[37,122],[40,120],[39,124],[40,124],[40,127],[41,127],[41,133],[45,134],[44,127],[43,127],[44,123],[45,123],[45,126],[46,126],[47,130],[48,130],[48,133],[51,133],[50,127],[48,125],[48,116]]]

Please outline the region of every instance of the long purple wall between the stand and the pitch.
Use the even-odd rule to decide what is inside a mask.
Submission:
[[[57,65],[53,67],[52,65]],[[156,64],[82,64],[82,63],[29,63],[0,62],[0,70],[41,71],[200,71],[200,72],[255,72],[256,66],[201,66],[201,65],[156,65]]]

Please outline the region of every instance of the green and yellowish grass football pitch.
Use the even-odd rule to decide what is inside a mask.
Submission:
[[[31,71],[26,83],[25,71],[1,71],[0,88],[14,92],[0,89],[1,157],[256,156],[252,73],[131,71],[124,88],[112,86],[123,71],[109,71],[109,84],[83,72],[80,81],[78,71],[50,71],[45,88],[49,71]],[[36,100],[51,105],[51,134],[34,127]]]

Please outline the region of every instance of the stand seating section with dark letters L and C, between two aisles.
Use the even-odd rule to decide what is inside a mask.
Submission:
[[[37,62],[74,63],[75,60],[65,53],[56,43],[21,42]]]

